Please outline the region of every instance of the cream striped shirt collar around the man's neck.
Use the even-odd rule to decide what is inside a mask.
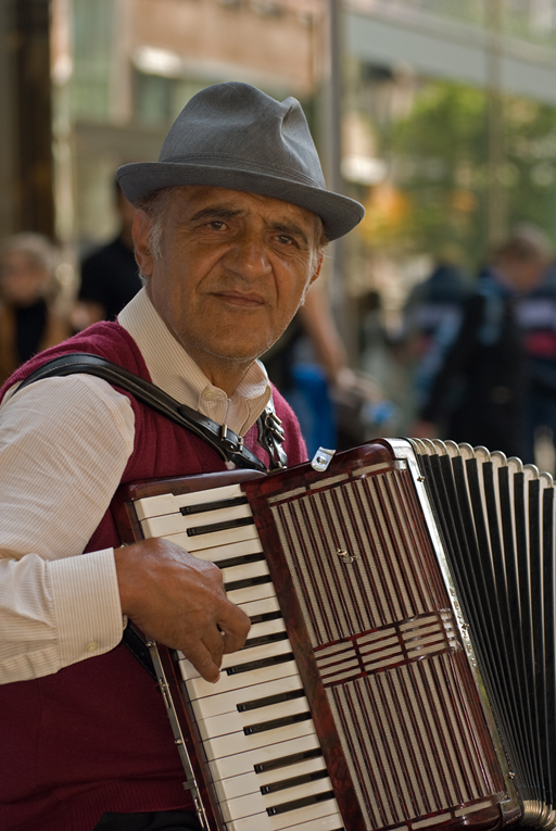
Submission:
[[[218,424],[226,424],[239,436],[255,424],[270,399],[268,376],[258,361],[250,366],[228,399],[173,337],[144,288],[117,319],[139,347],[153,383],[164,392]]]

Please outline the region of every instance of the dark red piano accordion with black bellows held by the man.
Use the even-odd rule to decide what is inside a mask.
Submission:
[[[252,619],[217,684],[150,644],[205,828],[556,827],[547,474],[380,439],[125,486],[113,512],[123,542],[217,563]]]

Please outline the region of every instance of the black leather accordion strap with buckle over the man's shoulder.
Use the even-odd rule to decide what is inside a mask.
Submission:
[[[198,413],[195,410],[180,404],[160,387],[146,381],[135,373],[106,361],[99,355],[86,352],[72,352],[49,361],[31,373],[20,385],[16,392],[34,381],[53,376],[86,373],[103,378],[115,387],[130,392],[142,404],[152,407],[157,413],[170,418],[186,429],[204,439],[225,461],[233,462],[238,467],[249,467],[255,470],[266,470],[265,465],[243,444],[243,439],[237,436],[226,425],[219,425],[212,418]],[[270,469],[286,467],[287,456],[281,448],[285,433],[280,419],[274,412],[273,401],[258,419],[258,443],[267,451],[270,458]]]

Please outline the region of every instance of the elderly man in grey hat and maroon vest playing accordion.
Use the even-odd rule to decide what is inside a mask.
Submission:
[[[256,443],[270,399],[257,357],[316,279],[323,247],[362,206],[325,189],[299,102],[243,84],[195,96],[159,163],[125,165],[146,287],[34,358],[0,408],[0,827],[195,829],[160,693],[122,645],[123,616],[208,681],[249,619],[216,566],[164,540],[118,547],[121,482],[225,468],[197,435],[89,375],[16,382],[53,356],[96,353]],[[289,464],[304,461],[275,391]],[[84,556],[81,555],[84,552]]]

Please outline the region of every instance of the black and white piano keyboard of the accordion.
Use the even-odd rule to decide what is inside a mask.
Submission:
[[[180,669],[228,831],[334,831],[343,821],[293,659],[251,509],[240,486],[135,503],[146,538],[164,537],[223,570],[251,618],[217,684]]]

